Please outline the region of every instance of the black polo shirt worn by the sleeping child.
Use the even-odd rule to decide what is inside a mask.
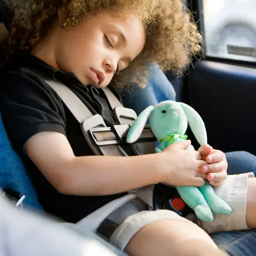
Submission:
[[[14,150],[28,170],[39,202],[50,214],[68,222],[77,222],[124,194],[95,197],[62,195],[25,156],[23,147],[26,141],[44,131],[66,135],[76,156],[94,155],[83,137],[79,122],[56,92],[30,68],[66,84],[93,114],[98,113],[103,117],[106,125],[114,124],[115,120],[102,90],[83,86],[74,74],[56,70],[35,56],[21,54],[12,61],[1,77],[0,111],[4,125]]]

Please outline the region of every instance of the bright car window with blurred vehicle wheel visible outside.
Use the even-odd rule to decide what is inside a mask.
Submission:
[[[256,61],[256,0],[202,0],[205,55]]]

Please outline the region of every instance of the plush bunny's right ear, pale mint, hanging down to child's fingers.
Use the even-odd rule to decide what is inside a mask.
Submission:
[[[203,119],[191,106],[179,102],[190,126],[191,131],[194,133],[200,145],[207,144],[207,134]]]

